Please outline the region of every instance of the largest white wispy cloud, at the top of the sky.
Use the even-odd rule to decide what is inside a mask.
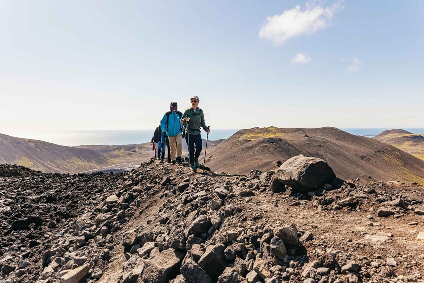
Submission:
[[[259,37],[275,44],[284,44],[293,37],[312,35],[328,27],[334,14],[343,9],[343,1],[325,8],[316,5],[316,1],[306,2],[305,6],[302,10],[296,6],[283,14],[267,17]]]

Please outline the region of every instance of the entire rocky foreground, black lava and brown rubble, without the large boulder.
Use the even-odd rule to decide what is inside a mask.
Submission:
[[[0,165],[2,282],[424,281],[424,187],[275,193],[271,176]]]

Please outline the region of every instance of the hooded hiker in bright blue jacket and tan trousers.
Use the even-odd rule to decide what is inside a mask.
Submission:
[[[181,137],[181,134],[183,129],[180,122],[182,113],[177,111],[177,108],[177,103],[171,102],[171,111],[166,112],[161,120],[161,130],[164,137],[168,137],[169,140],[172,164],[183,164],[183,161],[181,160],[181,155],[183,154],[183,138]],[[175,149],[177,152],[175,152]]]

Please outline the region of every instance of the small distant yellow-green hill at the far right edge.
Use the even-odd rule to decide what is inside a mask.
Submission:
[[[395,146],[415,157],[424,160],[424,135],[412,134],[405,130],[393,129],[373,137],[377,141]]]

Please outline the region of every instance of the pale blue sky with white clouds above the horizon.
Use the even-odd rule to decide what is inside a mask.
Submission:
[[[0,133],[424,128],[422,1],[0,0]]]

